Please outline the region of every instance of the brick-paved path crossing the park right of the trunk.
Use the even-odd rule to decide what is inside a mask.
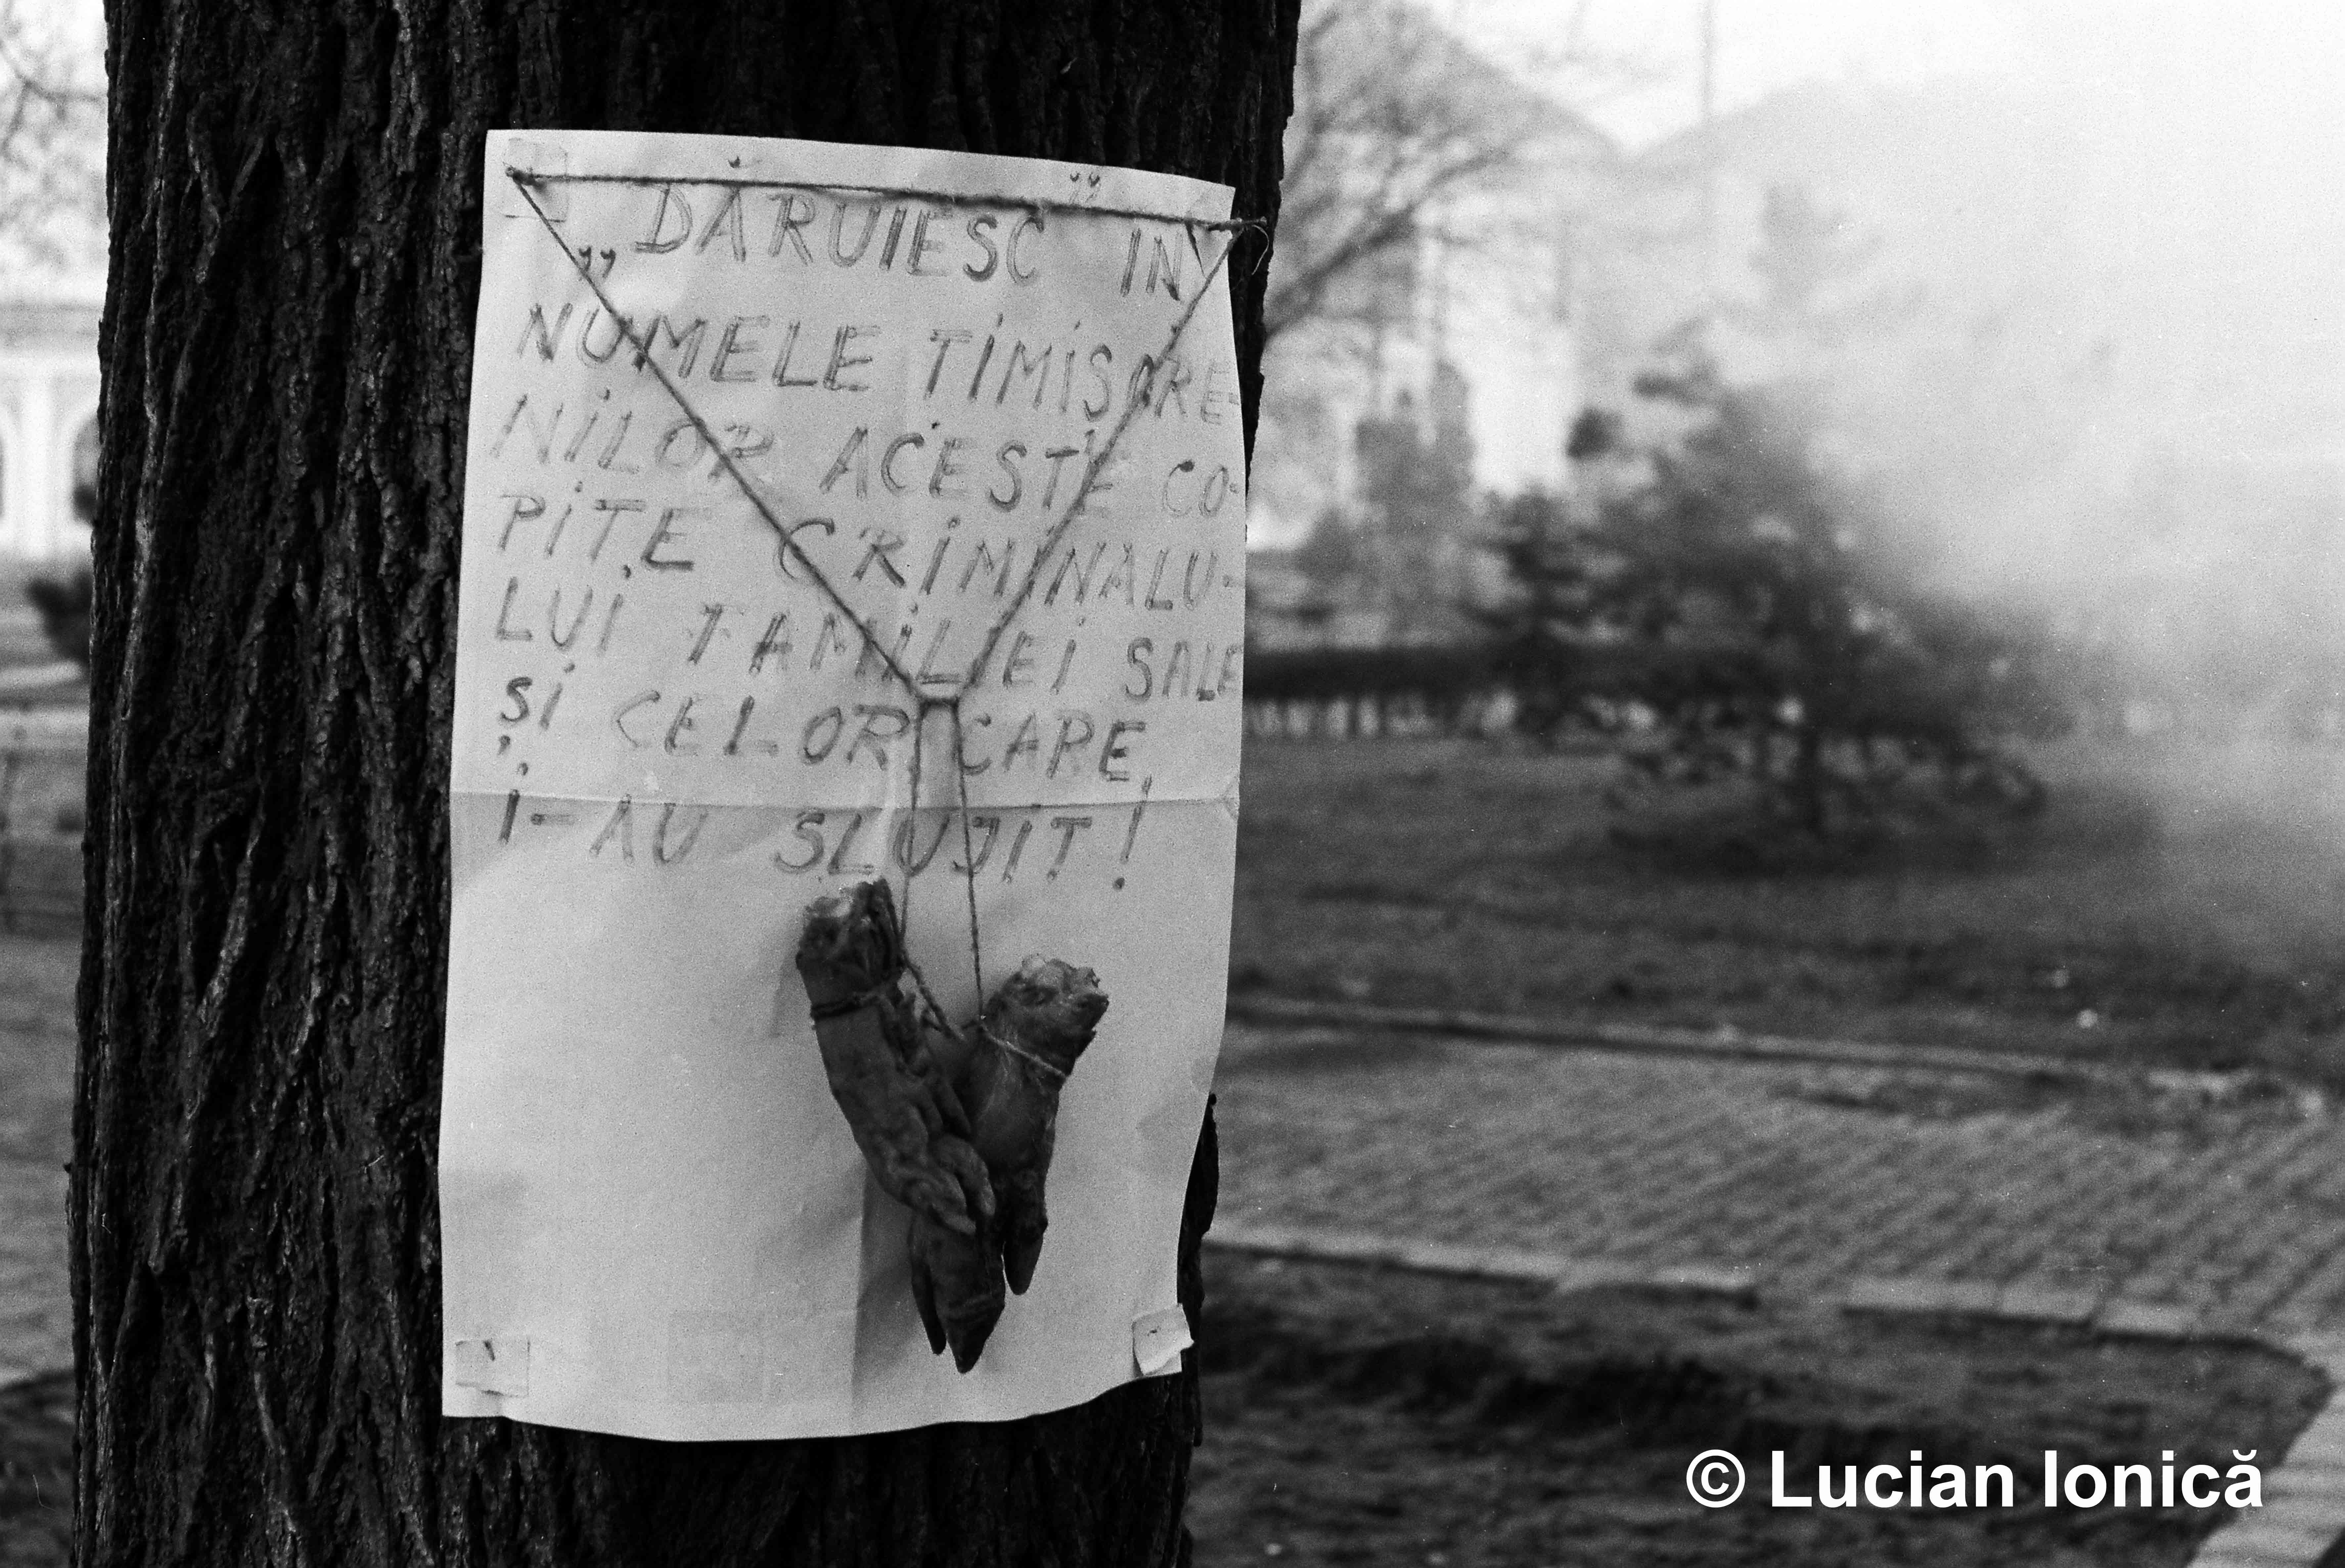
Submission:
[[[1831,1294],[2040,1287],[2221,1331],[2345,1322],[2345,1116],[2277,1085],[1231,1027],[1219,1097],[1231,1228],[1752,1268]]]

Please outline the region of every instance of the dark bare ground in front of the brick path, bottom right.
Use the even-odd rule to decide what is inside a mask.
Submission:
[[[2244,1345],[1588,1294],[1325,1263],[1208,1259],[1196,1561],[1604,1568],[2186,1563],[2228,1509],[2042,1507],[2061,1465],[2265,1474],[2326,1383]],[[1686,1495],[1705,1448],[1740,1502]],[[2014,1507],[1775,1509],[1817,1465],[2007,1465]],[[1808,1484],[1801,1484],[1806,1479]],[[2000,1493],[1993,1498],[2000,1505]]]

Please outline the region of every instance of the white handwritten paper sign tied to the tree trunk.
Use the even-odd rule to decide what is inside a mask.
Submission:
[[[1236,853],[1229,190],[499,131],[488,192],[443,1409],[830,1437],[1168,1371]],[[968,1376],[790,966],[870,877],[954,1017],[1027,954],[1112,998]]]

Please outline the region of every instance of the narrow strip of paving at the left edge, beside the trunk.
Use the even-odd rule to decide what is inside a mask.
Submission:
[[[73,1362],[75,945],[0,938],[0,1383]]]

